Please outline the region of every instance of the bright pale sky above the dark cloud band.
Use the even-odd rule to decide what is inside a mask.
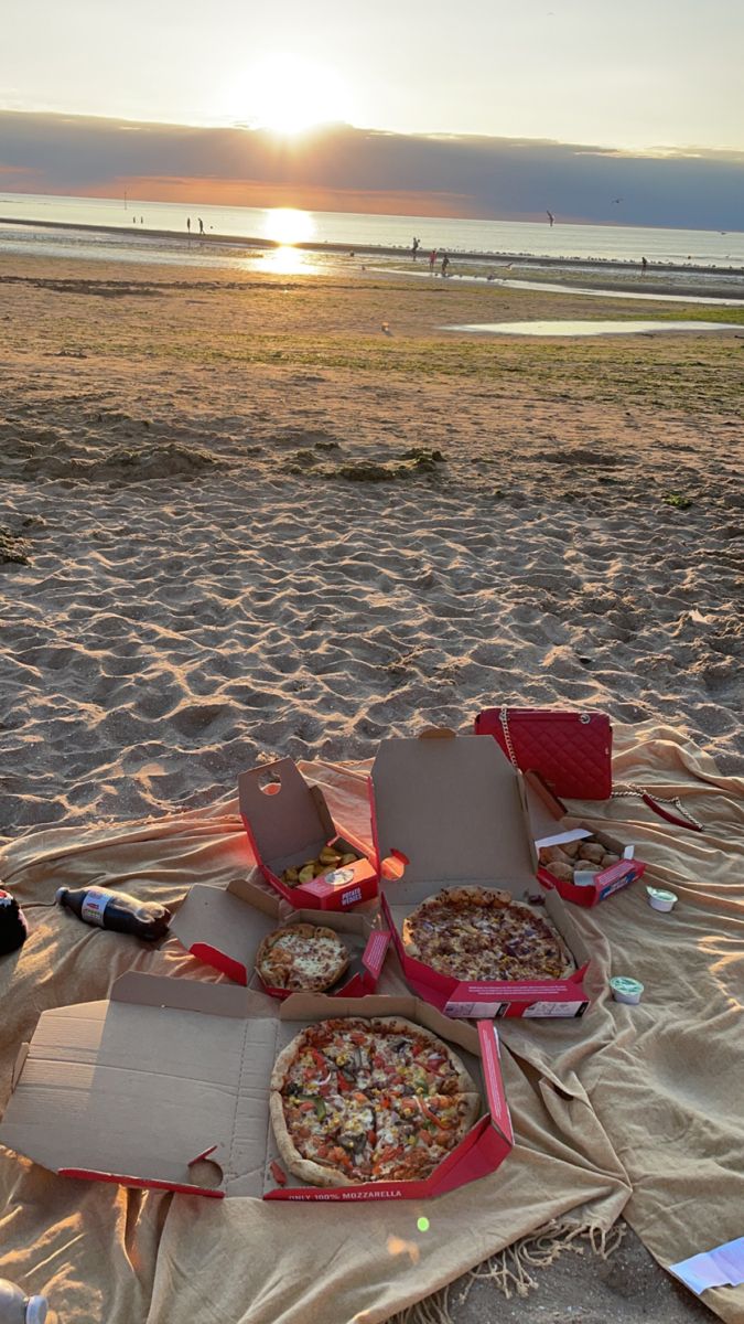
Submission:
[[[0,109],[736,150],[743,50],[743,0],[4,0]]]

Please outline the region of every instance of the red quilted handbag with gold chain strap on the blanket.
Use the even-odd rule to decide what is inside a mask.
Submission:
[[[485,708],[475,735],[491,735],[520,772],[537,772],[556,796],[609,800],[612,726],[605,712]]]

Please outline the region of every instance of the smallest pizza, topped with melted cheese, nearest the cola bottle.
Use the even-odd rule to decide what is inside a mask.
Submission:
[[[275,989],[322,993],[348,969],[339,935],[320,924],[290,924],[269,933],[256,953],[256,972]]]

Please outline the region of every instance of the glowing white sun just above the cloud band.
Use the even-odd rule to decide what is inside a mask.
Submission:
[[[340,74],[298,56],[269,56],[250,70],[245,90],[258,128],[299,134],[351,119],[351,90]]]

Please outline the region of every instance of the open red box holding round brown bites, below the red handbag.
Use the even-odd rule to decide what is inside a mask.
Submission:
[[[598,842],[610,855],[618,855],[618,861],[608,869],[600,869],[594,874],[594,880],[585,886],[579,886],[571,879],[556,878],[548,869],[537,865],[537,879],[543,887],[555,890],[564,900],[573,902],[575,906],[596,906],[604,902],[613,892],[621,891],[629,883],[634,883],[646,871],[646,865],[635,859],[635,847],[624,845],[606,831],[594,831],[581,820],[575,818],[557,798],[537,772],[524,773],[524,790],[527,812],[530,816],[531,835],[535,847],[565,846],[571,842],[582,842],[589,838]]]

